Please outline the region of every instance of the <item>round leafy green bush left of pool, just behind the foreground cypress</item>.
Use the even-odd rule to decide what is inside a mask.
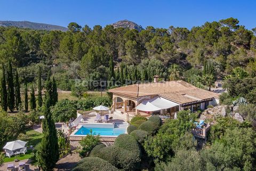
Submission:
[[[70,118],[76,118],[76,106],[68,99],[58,101],[52,107],[52,118],[55,122],[65,122]]]

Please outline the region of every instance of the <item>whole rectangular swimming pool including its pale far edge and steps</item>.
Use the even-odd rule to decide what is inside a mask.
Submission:
[[[92,134],[100,136],[118,136],[125,134],[127,125],[123,124],[85,124],[79,128],[74,135]]]

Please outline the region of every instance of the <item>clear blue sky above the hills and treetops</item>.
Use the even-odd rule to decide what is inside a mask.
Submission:
[[[247,29],[256,27],[256,1],[238,0],[0,0],[0,20],[32,21],[67,27],[106,26],[119,20],[168,28],[201,26],[206,21],[237,18]]]

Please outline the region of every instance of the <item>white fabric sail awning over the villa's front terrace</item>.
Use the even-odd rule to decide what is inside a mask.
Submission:
[[[141,111],[158,111],[161,109],[169,109],[179,105],[179,103],[172,102],[170,100],[164,99],[163,97],[156,96],[150,100],[142,101],[136,109]]]

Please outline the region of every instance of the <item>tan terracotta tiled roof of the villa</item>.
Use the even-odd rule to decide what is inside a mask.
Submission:
[[[181,104],[219,97],[219,94],[217,93],[197,88],[182,80],[147,84],[133,84],[129,86],[109,89],[109,92],[132,97],[160,95]]]

